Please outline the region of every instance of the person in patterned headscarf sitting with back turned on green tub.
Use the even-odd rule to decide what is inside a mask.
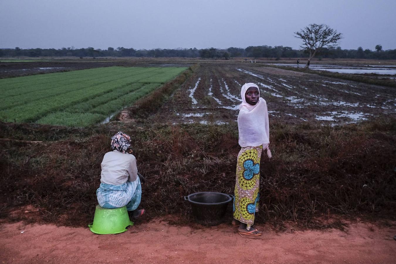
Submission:
[[[137,172],[136,158],[132,155],[131,138],[118,132],[111,138],[112,151],[107,152],[101,164],[101,184],[96,190],[98,203],[103,208],[126,206],[133,218],[145,212],[137,210],[145,179]]]

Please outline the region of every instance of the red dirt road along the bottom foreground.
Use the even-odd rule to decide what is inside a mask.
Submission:
[[[88,228],[5,223],[0,226],[2,263],[395,263],[396,226],[351,224],[339,230],[241,237],[222,224],[192,229],[158,220],[118,235]]]

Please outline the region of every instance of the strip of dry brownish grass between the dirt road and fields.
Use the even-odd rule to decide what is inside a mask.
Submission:
[[[141,204],[146,220],[173,214],[177,223],[188,223],[183,196],[234,189],[236,124],[0,126],[1,138],[44,141],[0,141],[3,219],[37,221],[38,214],[40,222],[86,226],[97,203],[101,160],[119,130],[133,135],[138,168],[147,178]],[[344,127],[272,123],[271,131],[274,157],[261,160],[258,222],[282,229],[290,220],[302,228],[342,227],[334,215],[395,220],[394,119]],[[27,205],[39,209],[35,218],[24,213]]]

